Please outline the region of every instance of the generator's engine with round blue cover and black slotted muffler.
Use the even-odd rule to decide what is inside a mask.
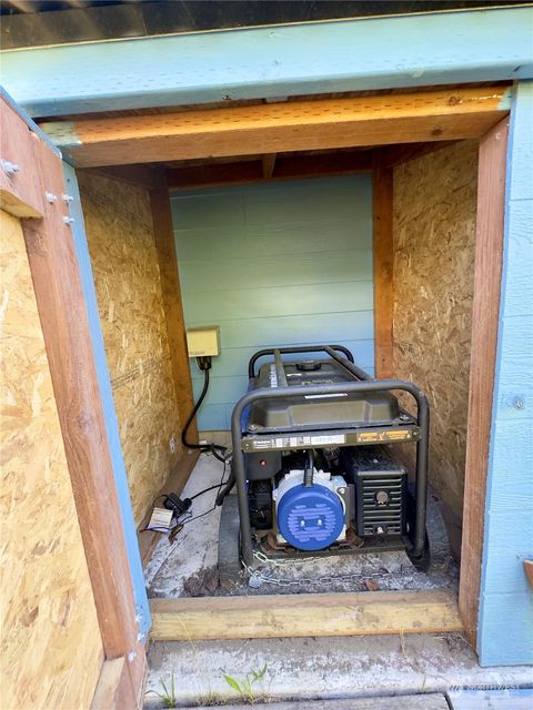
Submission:
[[[316,468],[315,459],[324,466]],[[318,551],[371,539],[403,546],[408,471],[394,463],[388,447],[264,454],[259,462],[251,455],[249,460],[255,463],[249,468],[250,523],[258,532],[269,531],[275,547]],[[281,469],[262,478],[275,462]]]

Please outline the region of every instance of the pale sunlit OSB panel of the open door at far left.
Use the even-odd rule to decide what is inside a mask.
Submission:
[[[0,707],[88,708],[103,659],[20,223],[2,263]]]

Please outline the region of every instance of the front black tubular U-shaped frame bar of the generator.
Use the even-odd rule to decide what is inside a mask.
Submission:
[[[270,351],[265,351],[270,353]],[[253,359],[253,358],[252,358]],[[404,379],[373,379],[364,382],[346,382],[333,385],[298,385],[293,387],[262,387],[252,389],[239,399],[231,415],[231,438],[233,444],[232,473],[235,478],[239,518],[241,527],[242,560],[247,568],[254,567],[252,529],[250,526],[250,509],[247,495],[247,473],[244,453],[242,452],[242,413],[254,402],[261,399],[294,399],[305,395],[365,394],[371,392],[391,392],[400,389],[409,393],[416,400],[416,424],[420,437],[416,442],[415,467],[415,516],[414,535],[408,550],[411,557],[421,557],[424,551],[425,507],[428,498],[428,458],[430,444],[430,406],[425,394],[412,382]]]

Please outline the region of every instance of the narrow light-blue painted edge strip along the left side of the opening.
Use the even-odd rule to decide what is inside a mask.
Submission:
[[[108,361],[105,357],[102,329],[100,325],[91,257],[89,255],[86,229],[83,224],[83,213],[81,210],[80,192],[78,189],[78,180],[74,169],[71,165],[63,163],[63,171],[69,194],[74,197],[74,201],[72,202],[70,209],[71,214],[74,217],[72,230],[74,235],[76,254],[80,267],[83,294],[87,305],[87,314],[89,318],[89,327],[92,337],[93,357],[97,367],[98,383],[100,386],[100,397],[102,400],[103,416],[108,433],[109,449],[111,453],[111,462],[114,471],[114,480],[117,484],[120,511],[122,515],[122,529],[124,531],[125,548],[128,552],[128,561],[130,565],[131,580],[133,585],[137,621],[139,623],[139,630],[142,636],[142,640],[145,642],[148,640],[148,632],[151,627],[150,607],[148,604],[148,596],[144,586],[144,576],[142,571],[142,562],[137,538],[135,521],[133,519],[133,510],[131,507],[128,477],[122,458],[119,424],[114,409],[113,393],[111,390]]]

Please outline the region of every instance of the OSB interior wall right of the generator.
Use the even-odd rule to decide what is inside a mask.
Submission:
[[[394,170],[394,371],[426,393],[430,481],[461,516],[477,186],[477,144]]]

